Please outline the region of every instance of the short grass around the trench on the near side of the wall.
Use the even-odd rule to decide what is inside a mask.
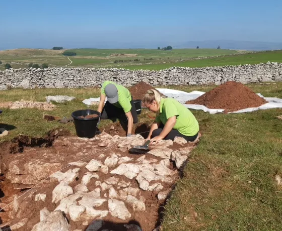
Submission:
[[[282,98],[282,82],[247,86],[264,96]],[[190,92],[215,86],[165,87]],[[45,113],[69,117],[72,111],[87,108],[82,100],[99,96],[99,88],[12,89],[0,91],[0,101],[45,101],[45,96],[56,94],[77,99]],[[191,111],[202,138],[165,206],[163,230],[282,230],[282,188],[274,182],[275,174],[282,174],[282,122],[276,118],[282,109],[238,114]],[[147,112],[144,109],[139,120],[152,123]],[[1,142],[18,135],[42,137],[56,128],[75,134],[74,124],[44,121],[43,113],[38,109],[4,109],[1,126],[15,129]],[[108,123],[102,121],[99,126]]]

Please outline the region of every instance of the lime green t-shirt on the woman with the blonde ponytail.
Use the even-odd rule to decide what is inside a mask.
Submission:
[[[173,98],[162,98],[156,122],[165,125],[167,120],[173,116],[176,116],[173,129],[178,130],[182,135],[195,136],[199,132],[199,124],[188,108]]]

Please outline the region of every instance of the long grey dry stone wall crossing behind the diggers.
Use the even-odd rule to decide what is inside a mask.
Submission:
[[[222,84],[226,81],[254,83],[282,81],[282,63],[218,66],[205,68],[171,67],[160,71],[121,68],[47,68],[0,71],[0,89],[8,88],[76,88],[101,86],[112,80],[124,86],[139,81],[151,85]]]

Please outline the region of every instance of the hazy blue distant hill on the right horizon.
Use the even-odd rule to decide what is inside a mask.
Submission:
[[[236,41],[236,40],[205,40],[190,41],[180,44],[177,48],[217,48],[232,50],[248,50],[248,51],[265,51],[282,49],[282,43],[270,42],[252,42],[252,41]]]

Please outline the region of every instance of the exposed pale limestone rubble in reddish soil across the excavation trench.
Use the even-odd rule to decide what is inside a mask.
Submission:
[[[118,141],[120,147],[110,148],[108,151],[112,153],[105,152],[92,156],[92,159],[77,161],[82,159],[81,156],[89,156],[89,150],[96,150],[104,139],[110,142]],[[58,152],[54,158],[54,154],[48,150],[45,150],[43,155],[34,150],[38,155],[37,160],[33,159],[21,165],[27,158],[24,153],[19,154],[16,160],[11,159],[3,165],[8,169],[7,178],[19,184],[36,184],[50,175],[46,183],[54,185],[52,195],[30,194],[24,200],[27,203],[42,203],[48,201],[50,196],[55,205],[54,211],[48,211],[47,208],[40,211],[40,222],[35,224],[32,230],[47,230],[44,228],[55,224],[61,228],[56,230],[69,230],[68,222],[62,213],[74,222],[86,222],[106,216],[127,220],[133,215],[130,211],[146,212],[146,191],[159,200],[166,199],[178,179],[178,171],[172,167],[171,162],[174,161],[178,169],[182,168],[193,149],[185,147],[187,144],[181,139],[180,141],[174,141],[183,143],[183,147],[178,150],[172,148],[173,141],[164,141],[161,146],[152,146],[152,150],[145,155],[125,156],[121,150],[124,147],[129,148],[126,142],[143,144],[144,138],[138,135],[126,138],[112,137],[104,132],[93,139],[62,137],[54,142],[53,147],[63,146],[66,156]],[[68,150],[75,150],[77,154],[68,155]],[[70,166],[67,170],[60,171],[65,166],[61,163]],[[24,218],[22,215],[25,208],[23,200],[15,197],[13,209],[10,211],[11,217]]]

